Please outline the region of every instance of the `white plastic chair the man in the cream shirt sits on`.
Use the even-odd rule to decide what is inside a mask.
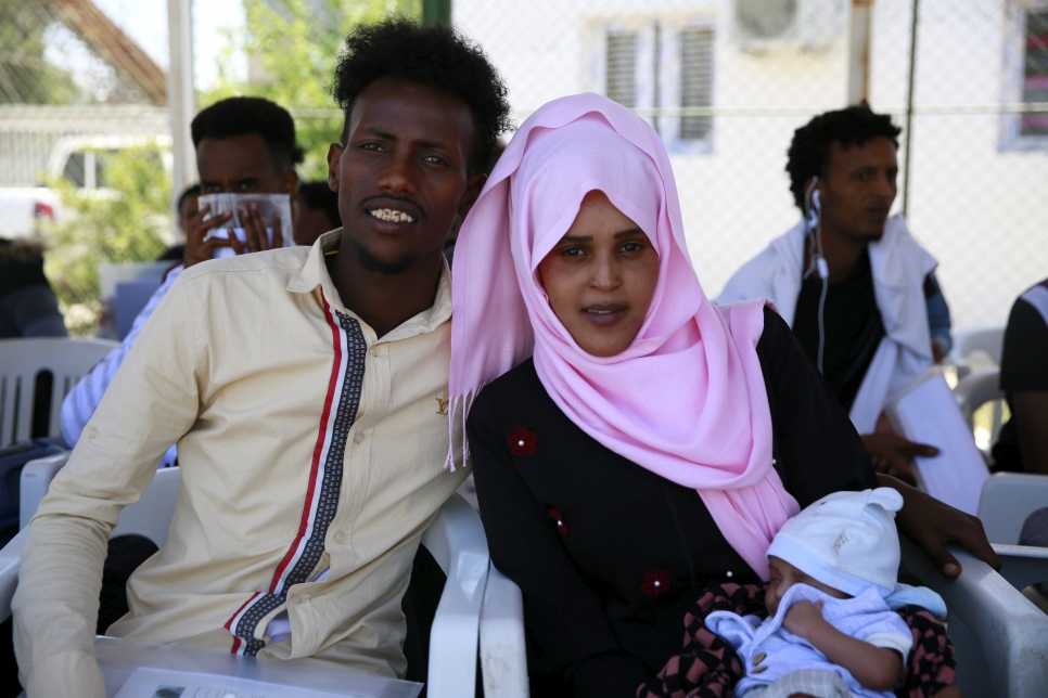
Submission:
[[[51,480],[68,457],[68,453],[63,453],[26,464],[20,502],[24,521],[33,517]],[[157,470],[142,499],[120,512],[113,535],[138,533],[157,546],[164,545],[180,481],[177,467]],[[18,583],[22,547],[27,533],[23,528],[0,551],[0,620],[11,615],[11,598]],[[471,698],[476,688],[481,613],[487,598],[490,564],[484,528],[473,507],[458,494],[452,494],[423,532],[422,544],[447,574],[430,633],[427,691],[433,698]],[[504,581],[512,585],[509,580]],[[516,590],[515,585],[512,590]],[[520,596],[519,591],[516,594]],[[516,618],[523,643],[523,611],[519,610]],[[526,695],[526,663],[523,672],[524,694],[495,690],[486,695],[493,698]]]

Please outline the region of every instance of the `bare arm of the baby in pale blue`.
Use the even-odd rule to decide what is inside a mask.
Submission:
[[[797,602],[787,611],[782,624],[811,643],[834,664],[847,669],[865,687],[891,690],[898,683],[903,673],[899,654],[839,631],[822,618],[822,602]]]

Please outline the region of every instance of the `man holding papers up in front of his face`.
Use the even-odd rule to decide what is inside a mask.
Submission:
[[[71,447],[76,445],[142,326],[170,290],[179,273],[210,259],[219,247],[234,246],[238,254],[245,251],[235,237],[230,236],[228,241],[207,237],[212,230],[229,222],[231,216],[225,214],[205,220],[208,207],[204,210],[197,207],[201,192],[290,194],[298,183],[295,165],[302,161],[303,153],[295,144],[295,122],[286,109],[269,100],[237,96],[216,102],[196,115],[190,130],[196,147],[201,184],[187,189],[178,202],[179,225],[186,233],[181,257],[183,263],[167,273],[161,287],[135,319],[120,346],[65,396],[62,401],[62,437]],[[264,231],[266,223],[257,217],[245,222],[252,249],[269,249],[268,236]],[[269,224],[279,229],[279,219]],[[280,245],[280,235],[274,235],[273,246]],[[161,467],[175,465],[176,460],[177,453],[171,445],[161,458]]]

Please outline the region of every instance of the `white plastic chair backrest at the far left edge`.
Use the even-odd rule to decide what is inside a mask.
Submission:
[[[77,380],[119,346],[105,339],[0,339],[0,445],[33,436],[37,379],[51,374],[49,396],[41,396],[50,411],[48,432],[57,436],[62,399]]]

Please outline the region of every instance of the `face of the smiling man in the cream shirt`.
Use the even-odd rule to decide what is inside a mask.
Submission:
[[[363,267],[399,273],[443,251],[484,181],[468,176],[472,145],[473,114],[451,93],[389,77],[357,98],[346,145],[328,152],[328,181]]]

